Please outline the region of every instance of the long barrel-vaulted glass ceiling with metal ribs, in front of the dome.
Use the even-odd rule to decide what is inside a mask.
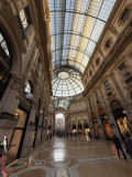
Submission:
[[[48,0],[54,71],[69,66],[84,73],[114,2]]]

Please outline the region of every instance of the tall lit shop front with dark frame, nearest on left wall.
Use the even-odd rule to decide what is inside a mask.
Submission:
[[[13,129],[11,140],[9,144],[9,150],[7,156],[7,164],[10,164],[16,158],[20,158],[25,132],[29,123],[29,115],[31,110],[31,103],[24,98],[21,98],[20,104],[15,112],[15,118],[18,121],[16,127]]]

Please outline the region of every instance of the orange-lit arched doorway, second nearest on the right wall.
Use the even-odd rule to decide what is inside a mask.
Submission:
[[[107,117],[107,114],[106,114],[106,111],[103,107],[100,107],[99,108],[99,115],[100,115],[100,119],[101,119],[101,123],[102,123],[102,127],[103,127],[103,131],[105,131],[105,136],[106,136],[106,139],[112,139],[112,134],[111,134],[111,129],[110,129],[110,124],[108,122],[108,117]]]

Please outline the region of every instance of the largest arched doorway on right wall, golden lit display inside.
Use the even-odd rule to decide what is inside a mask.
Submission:
[[[127,114],[122,107],[122,104],[113,100],[110,104],[113,117],[117,122],[119,132],[121,134],[122,140],[124,140],[124,136],[131,136],[132,135],[132,129],[129,124],[129,119],[127,117]]]

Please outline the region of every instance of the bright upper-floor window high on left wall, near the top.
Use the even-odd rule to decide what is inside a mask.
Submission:
[[[20,11],[20,19],[24,30],[26,31],[29,25],[32,23],[29,7],[25,7]]]

